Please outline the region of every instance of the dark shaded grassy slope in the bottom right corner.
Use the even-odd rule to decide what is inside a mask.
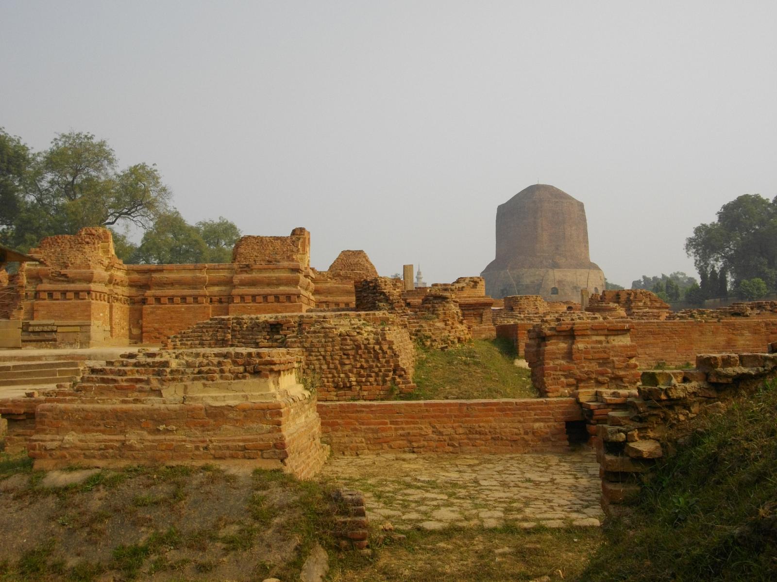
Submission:
[[[775,580],[777,382],[698,417],[583,580]]]

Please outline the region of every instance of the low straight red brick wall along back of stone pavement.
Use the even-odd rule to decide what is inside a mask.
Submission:
[[[322,441],[334,454],[560,452],[573,398],[319,402]]]

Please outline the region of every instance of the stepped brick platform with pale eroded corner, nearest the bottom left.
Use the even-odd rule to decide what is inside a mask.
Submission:
[[[81,463],[250,462],[301,478],[326,459],[301,352],[182,350],[127,355],[37,399],[27,443],[38,468]]]

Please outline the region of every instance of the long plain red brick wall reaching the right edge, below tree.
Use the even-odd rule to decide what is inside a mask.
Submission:
[[[714,321],[634,321],[632,343],[640,367],[656,362],[683,365],[697,354],[765,352],[777,341],[777,318],[742,317]]]

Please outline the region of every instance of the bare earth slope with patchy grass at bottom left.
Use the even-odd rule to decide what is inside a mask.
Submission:
[[[327,543],[326,492],[278,471],[103,470],[65,487],[24,456],[0,459],[0,580],[298,577]]]

